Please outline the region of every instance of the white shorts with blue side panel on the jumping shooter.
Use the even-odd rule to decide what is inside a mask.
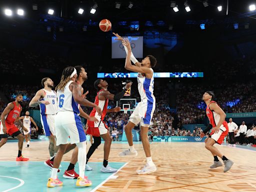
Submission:
[[[140,126],[149,127],[155,109],[155,102],[142,101],[137,104],[130,115],[129,121]]]

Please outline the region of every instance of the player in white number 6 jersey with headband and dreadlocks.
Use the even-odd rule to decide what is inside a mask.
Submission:
[[[76,69],[72,66],[64,68],[57,90],[57,115],[55,117],[56,145],[59,146],[53,161],[51,177],[48,178],[47,187],[61,186],[63,183],[57,178],[57,170],[61,158],[66,150],[68,137],[70,144],[75,144],[78,148],[77,161],[79,164],[79,176],[76,186],[90,186],[91,181],[84,176],[86,161],[86,135],[79,117],[79,106],[95,107],[99,114],[102,111],[99,106],[83,98],[81,85],[76,83]]]

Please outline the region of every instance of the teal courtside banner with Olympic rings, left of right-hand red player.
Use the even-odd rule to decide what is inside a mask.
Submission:
[[[153,136],[153,142],[204,142],[199,136]]]

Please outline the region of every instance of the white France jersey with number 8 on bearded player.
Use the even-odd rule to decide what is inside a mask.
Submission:
[[[56,92],[51,90],[48,91],[44,89],[45,95],[40,100],[47,100],[49,104],[40,103],[40,112],[41,114],[56,114],[57,113],[57,95]]]

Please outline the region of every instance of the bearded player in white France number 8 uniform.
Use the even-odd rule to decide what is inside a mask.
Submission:
[[[40,106],[41,124],[45,136],[49,138],[49,154],[57,152],[55,141],[54,118],[57,113],[57,95],[53,88],[53,81],[49,77],[41,80],[42,89],[38,90],[29,102],[30,107]]]

